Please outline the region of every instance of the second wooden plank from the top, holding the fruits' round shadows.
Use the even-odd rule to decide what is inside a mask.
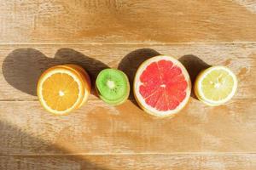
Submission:
[[[0,100],[35,100],[41,72],[51,65],[76,63],[94,80],[102,68],[115,67],[132,82],[144,59],[170,54],[183,61],[190,76],[204,65],[226,65],[236,73],[239,87],[235,99],[255,99],[256,44],[172,45],[1,45]],[[32,95],[29,95],[32,94]],[[97,99],[91,96],[90,99]]]

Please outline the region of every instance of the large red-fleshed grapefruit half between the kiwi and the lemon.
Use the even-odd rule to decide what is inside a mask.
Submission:
[[[188,103],[189,73],[171,56],[159,55],[139,66],[133,84],[138,105],[154,116],[173,116]]]

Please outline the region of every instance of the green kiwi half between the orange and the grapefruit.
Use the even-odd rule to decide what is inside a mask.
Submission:
[[[120,105],[130,94],[128,77],[123,71],[104,69],[96,78],[96,92],[109,105]]]

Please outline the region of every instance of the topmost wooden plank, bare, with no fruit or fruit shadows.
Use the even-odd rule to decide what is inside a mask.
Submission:
[[[255,42],[251,0],[1,0],[0,43]]]

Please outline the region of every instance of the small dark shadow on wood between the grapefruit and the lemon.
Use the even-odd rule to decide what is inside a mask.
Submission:
[[[193,90],[195,78],[201,71],[209,68],[211,65],[208,65],[202,59],[200,59],[199,57],[197,57],[193,54],[183,55],[178,60],[185,66],[185,68],[189,72],[189,77],[190,77],[191,84],[192,84],[191,97],[197,99],[195,96],[194,90]]]

